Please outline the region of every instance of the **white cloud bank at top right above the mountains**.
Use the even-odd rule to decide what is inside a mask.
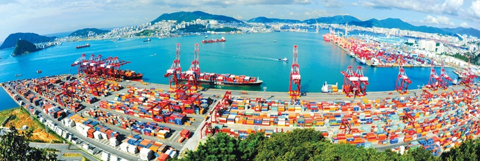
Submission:
[[[442,0],[370,0],[362,1],[361,5],[379,10],[413,10],[427,14],[435,13],[457,16],[458,12],[461,10],[461,6],[464,5],[464,0],[445,0],[443,3]]]

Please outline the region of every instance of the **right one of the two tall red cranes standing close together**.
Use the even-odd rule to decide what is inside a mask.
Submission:
[[[187,84],[190,87],[190,90],[200,89],[200,66],[198,62],[199,49],[198,44],[195,44],[195,55],[190,66],[189,71],[185,72],[185,79],[187,79]],[[192,89],[193,88],[193,89]]]

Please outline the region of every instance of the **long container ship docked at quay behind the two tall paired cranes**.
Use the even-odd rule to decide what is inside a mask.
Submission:
[[[182,73],[182,81],[187,81]],[[258,77],[248,77],[245,75],[200,73],[200,83],[217,86],[260,86],[263,83]]]

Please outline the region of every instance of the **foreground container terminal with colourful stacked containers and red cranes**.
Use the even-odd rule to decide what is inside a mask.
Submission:
[[[180,54],[180,45],[177,49]],[[185,72],[187,79],[180,59],[173,60],[164,75],[167,85],[122,79],[124,61],[80,58],[72,64],[75,75],[1,86],[57,134],[101,160],[181,157],[219,132],[245,138],[311,127],[332,143],[398,153],[422,147],[435,156],[480,134],[480,88],[471,71],[461,85],[448,86],[450,77],[432,70],[428,86],[410,90],[411,80],[399,68],[396,91],[367,93],[368,75],[361,66],[346,66],[339,71],[342,93],[306,94],[300,91],[298,56],[295,45],[289,92],[202,89],[198,59]]]

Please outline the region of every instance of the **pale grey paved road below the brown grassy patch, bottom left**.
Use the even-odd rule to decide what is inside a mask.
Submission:
[[[81,151],[75,146],[71,146],[69,144],[51,144],[51,143],[30,143],[30,147],[38,147],[38,148],[53,148],[60,150],[58,153],[58,160],[82,160],[82,157],[62,157],[63,153],[80,153],[88,160],[97,160],[97,158],[92,157],[90,154]],[[70,149],[73,147],[73,149]]]

